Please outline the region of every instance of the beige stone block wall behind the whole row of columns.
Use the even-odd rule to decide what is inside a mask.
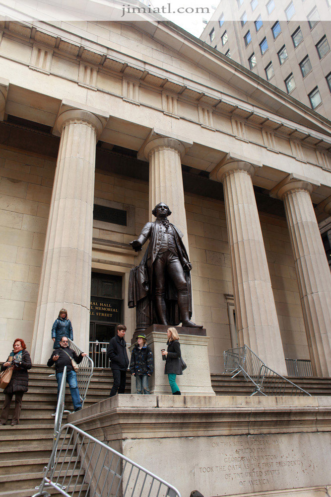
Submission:
[[[16,336],[30,348],[55,160],[1,147],[0,165],[0,358],[5,359]],[[94,221],[94,240],[119,245],[94,245],[92,260],[94,269],[124,276],[126,300],[130,268],[139,262],[142,253],[136,255],[124,244],[132,241],[149,220],[148,184],[97,168],[95,202],[128,212],[128,227]],[[193,262],[194,318],[207,329],[211,372],[219,373],[223,371],[223,350],[235,345],[231,342],[225,298],[233,294],[233,289],[224,203],[195,194],[186,194],[185,202]],[[309,358],[286,220],[265,213],[260,213],[260,219],[285,356]],[[134,316],[125,302],[129,341]]]

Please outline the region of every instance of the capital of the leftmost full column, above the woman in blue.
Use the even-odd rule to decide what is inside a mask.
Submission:
[[[86,122],[93,126],[97,137],[99,137],[107,124],[108,118],[109,112],[65,99],[62,101],[53,132],[60,136],[67,122]]]

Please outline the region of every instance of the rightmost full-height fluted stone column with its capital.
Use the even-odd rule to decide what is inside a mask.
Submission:
[[[271,195],[285,206],[313,372],[331,376],[331,273],[310,197],[319,184],[290,174]]]

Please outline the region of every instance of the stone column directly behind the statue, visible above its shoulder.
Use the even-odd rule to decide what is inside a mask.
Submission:
[[[149,214],[159,202],[165,202],[172,211],[170,221],[183,233],[183,242],[189,252],[184,187],[181,159],[193,145],[187,139],[164,136],[152,130],[142,145],[138,157],[149,161]]]

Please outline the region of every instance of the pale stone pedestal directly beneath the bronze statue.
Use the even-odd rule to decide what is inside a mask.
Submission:
[[[165,361],[162,360],[161,349],[167,350],[168,326],[153,325],[145,330],[147,343],[154,356],[154,373],[149,378],[152,394],[169,394],[168,376],[164,374]],[[208,337],[204,329],[176,327],[179,333],[181,352],[187,369],[177,375],[176,383],[182,395],[211,395],[215,392],[211,387],[208,360]],[[197,334],[196,334],[197,333]],[[199,334],[198,334],[199,333]],[[132,350],[133,345],[130,347]],[[132,376],[131,391],[135,393],[135,380]]]

